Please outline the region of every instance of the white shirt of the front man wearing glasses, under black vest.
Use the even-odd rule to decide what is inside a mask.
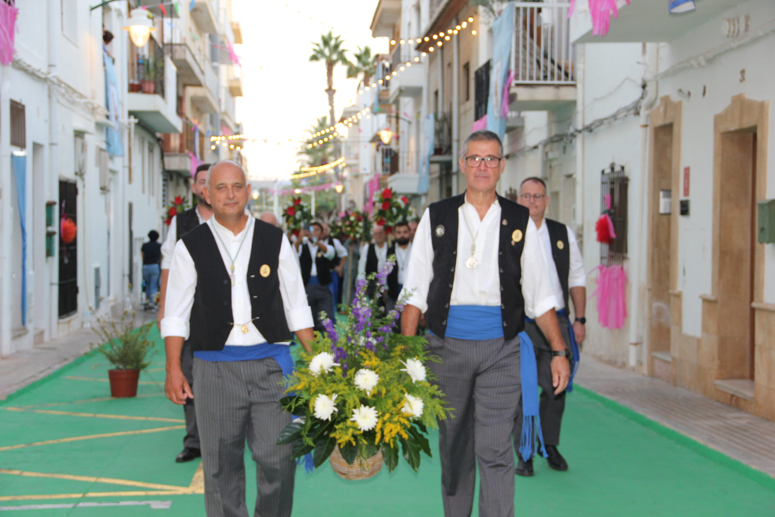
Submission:
[[[453,281],[450,305],[501,305],[501,277],[498,267],[498,238],[501,233],[501,205],[493,203],[484,219],[479,219],[477,209],[467,200],[457,212],[457,253],[455,277]],[[466,267],[471,256],[471,244],[474,240],[466,226],[467,217],[471,231],[477,236],[476,257],[478,265],[474,269]],[[535,319],[551,308],[556,308],[557,298],[553,294],[549,281],[549,264],[543,246],[538,238],[536,223],[532,219],[525,231],[525,246],[522,249],[522,297],[525,298],[525,315]],[[428,210],[422,215],[415,233],[415,243],[404,282],[408,295],[407,303],[428,310],[428,291],[433,279],[433,245],[431,243],[431,222]]]

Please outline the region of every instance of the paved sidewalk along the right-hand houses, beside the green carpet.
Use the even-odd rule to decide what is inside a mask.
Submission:
[[[583,355],[577,384],[775,477],[775,422]]]

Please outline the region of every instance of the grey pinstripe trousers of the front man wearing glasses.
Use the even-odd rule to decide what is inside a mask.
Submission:
[[[480,517],[512,517],[512,429],[522,392],[519,338],[426,338],[429,353],[442,360],[426,366],[455,410],[454,418],[439,422],[444,515],[471,515],[478,462]]]

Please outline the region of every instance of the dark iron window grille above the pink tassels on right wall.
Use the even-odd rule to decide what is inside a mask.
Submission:
[[[605,266],[621,266],[627,258],[627,191],[629,178],[625,167],[611,163],[600,173],[600,210],[608,210],[606,196],[611,198],[608,216],[614,223],[616,238],[610,244],[600,243],[600,263]]]

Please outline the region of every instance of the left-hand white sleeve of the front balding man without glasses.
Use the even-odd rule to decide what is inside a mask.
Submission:
[[[188,339],[197,274],[194,260],[183,240],[177,241],[175,245],[169,269],[164,319],[161,320],[161,337],[177,336]]]

